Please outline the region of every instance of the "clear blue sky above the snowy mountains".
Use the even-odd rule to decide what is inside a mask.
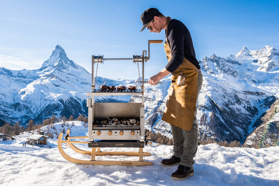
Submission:
[[[165,41],[164,32],[139,32],[139,17],[149,7],[188,27],[197,60],[213,53],[236,55],[244,46],[260,50],[268,45],[279,50],[278,0],[0,0],[0,67],[39,69],[56,45],[90,73],[91,55],[142,55],[148,50],[148,40]],[[163,44],[152,44],[144,77],[155,75],[166,63]],[[98,76],[136,79],[137,66],[132,61],[105,61]]]

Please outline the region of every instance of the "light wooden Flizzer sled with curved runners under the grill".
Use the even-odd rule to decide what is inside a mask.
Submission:
[[[62,140],[63,133],[59,134],[57,140],[57,146],[60,154],[69,162],[77,163],[77,164],[85,164],[85,165],[122,165],[122,166],[142,166],[142,165],[153,165],[152,162],[143,161],[143,156],[151,156],[151,153],[143,152],[143,148],[139,148],[139,152],[102,152],[100,147],[93,147],[91,151],[86,151],[77,148],[74,146],[74,143],[79,144],[88,144],[88,141],[71,141],[70,139],[82,139],[88,138],[88,136],[69,136],[70,129],[67,130],[66,140]],[[73,157],[70,157],[62,148],[62,143],[68,143],[69,147],[71,147],[75,152],[80,154],[88,154],[91,156],[91,160],[79,160]],[[139,161],[98,161],[95,160],[95,156],[139,156]]]

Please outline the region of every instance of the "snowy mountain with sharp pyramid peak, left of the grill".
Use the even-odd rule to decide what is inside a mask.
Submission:
[[[68,118],[88,114],[86,92],[91,91],[91,74],[69,60],[59,45],[40,69],[0,68],[0,78],[0,118],[4,121],[20,121],[24,125],[30,119],[42,122],[53,114]],[[100,86],[104,82],[118,85],[126,80],[98,77],[96,84]],[[124,100],[129,101],[129,98]],[[109,101],[114,100],[110,98]]]

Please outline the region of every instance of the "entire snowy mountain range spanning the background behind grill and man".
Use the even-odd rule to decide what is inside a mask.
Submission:
[[[200,139],[244,142],[263,124],[261,118],[279,97],[278,51],[269,46],[259,51],[243,47],[235,56],[213,54],[199,62],[203,73],[197,112]],[[4,121],[20,120],[25,124],[30,119],[42,122],[53,114],[87,115],[86,92],[91,92],[91,74],[69,60],[59,45],[40,69],[0,68],[0,78],[0,118]],[[145,126],[171,137],[169,124],[161,120],[170,76],[161,81],[165,83],[144,86]],[[135,80],[97,76],[96,87],[103,84],[139,87]],[[141,102],[141,96],[98,96],[95,101]]]

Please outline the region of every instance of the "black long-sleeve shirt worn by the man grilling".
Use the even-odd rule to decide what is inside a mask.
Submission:
[[[170,42],[171,60],[166,65],[166,70],[173,73],[183,63],[184,57],[200,69],[196,59],[193,41],[188,28],[179,20],[170,20],[167,40]]]

